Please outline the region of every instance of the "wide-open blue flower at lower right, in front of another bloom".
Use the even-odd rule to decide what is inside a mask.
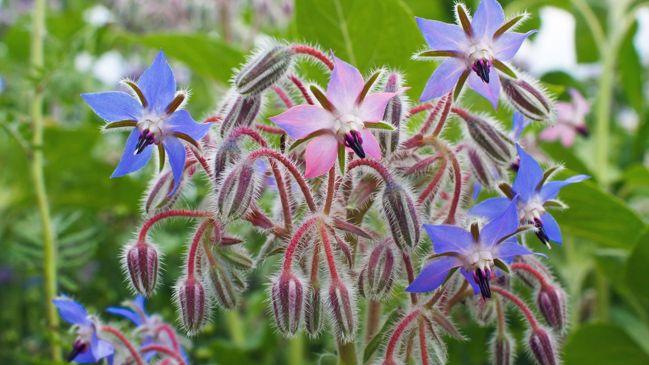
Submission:
[[[471,283],[474,293],[481,293],[486,299],[491,297],[489,280],[494,266],[505,264],[519,255],[545,256],[533,253],[512,239],[520,233],[514,202],[480,230],[477,225],[469,232],[453,225],[425,224],[424,229],[439,258],[419,273],[406,288],[407,292],[430,292],[444,283],[451,270],[461,268],[460,272]]]

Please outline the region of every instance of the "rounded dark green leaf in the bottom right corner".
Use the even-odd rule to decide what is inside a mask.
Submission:
[[[582,325],[563,348],[565,365],[649,364],[649,356],[618,325],[592,323]]]

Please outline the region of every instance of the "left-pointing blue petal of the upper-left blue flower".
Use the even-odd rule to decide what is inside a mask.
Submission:
[[[105,121],[138,120],[142,114],[140,102],[125,92],[98,92],[81,97]]]

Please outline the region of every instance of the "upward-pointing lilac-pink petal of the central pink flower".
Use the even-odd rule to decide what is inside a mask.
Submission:
[[[345,114],[351,112],[365,81],[354,66],[334,56],[334,71],[326,88],[326,98],[334,108]]]

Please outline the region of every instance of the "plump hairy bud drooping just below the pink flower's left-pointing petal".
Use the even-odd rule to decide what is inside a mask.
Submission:
[[[236,164],[217,186],[215,205],[221,219],[238,219],[246,214],[258,185],[254,165],[248,159]]]

